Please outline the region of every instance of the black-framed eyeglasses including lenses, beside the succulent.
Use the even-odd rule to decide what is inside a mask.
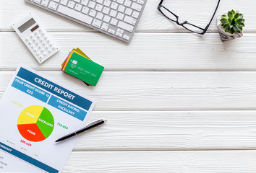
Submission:
[[[218,9],[218,5],[220,4],[220,1],[221,0],[218,0],[218,4],[217,4],[216,9],[213,13],[213,17],[216,14],[216,11]],[[200,34],[200,35],[205,34],[205,32],[208,30],[208,27],[210,26],[210,22],[212,22],[212,20],[213,20],[213,17],[211,17],[210,22],[208,23],[208,25],[205,28],[198,27],[197,25],[193,25],[193,24],[187,22],[187,20],[180,23],[179,22],[179,16],[177,16],[176,14],[174,14],[173,12],[168,10],[162,4],[163,4],[163,0],[161,0],[160,3],[158,4],[158,10],[163,14],[163,16],[167,17],[168,19],[170,19],[173,22],[176,22],[177,25],[180,25],[180,26],[184,27],[185,29],[187,29],[191,32],[195,32],[195,33]]]

